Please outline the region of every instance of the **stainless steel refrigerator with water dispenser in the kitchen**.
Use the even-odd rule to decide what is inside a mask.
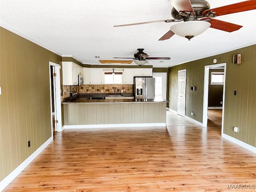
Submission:
[[[154,99],[155,82],[152,77],[134,77],[135,99]]]

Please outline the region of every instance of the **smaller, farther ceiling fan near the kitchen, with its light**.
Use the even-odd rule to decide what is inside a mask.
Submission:
[[[160,59],[160,60],[170,60],[170,57],[149,57],[148,54],[144,53],[142,48],[137,49],[138,52],[134,54],[134,58],[129,58],[129,57],[113,57],[115,59],[132,59],[134,62],[142,66],[146,64],[147,62],[152,62],[150,61],[151,59]]]

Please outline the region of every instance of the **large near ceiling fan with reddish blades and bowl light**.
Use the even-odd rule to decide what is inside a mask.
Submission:
[[[173,6],[171,14],[174,19],[116,25],[114,27],[140,25],[154,22],[168,23],[184,21],[171,26],[170,30],[159,40],[169,39],[174,34],[186,37],[188,40],[190,40],[194,36],[204,32],[209,27],[226,32],[236,31],[242,26],[213,18],[216,16],[256,9],[256,0],[247,0],[213,9],[210,9],[210,4],[206,0],[169,0],[169,2]]]

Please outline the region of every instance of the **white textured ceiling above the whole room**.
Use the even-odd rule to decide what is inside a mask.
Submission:
[[[241,1],[208,0],[211,8]],[[177,35],[158,41],[174,22],[113,27],[172,19],[171,9],[168,0],[0,0],[0,24],[84,64],[100,64],[95,56],[133,57],[144,48],[150,57],[170,57],[152,60],[153,67],[167,67],[256,44],[256,10],[216,17],[242,25],[240,30],[209,28],[190,41]]]

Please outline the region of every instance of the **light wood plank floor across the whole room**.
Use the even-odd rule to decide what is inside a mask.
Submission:
[[[4,192],[255,191],[228,189],[256,185],[256,154],[221,138],[220,114],[208,128],[168,111],[166,128],[58,132]]]

